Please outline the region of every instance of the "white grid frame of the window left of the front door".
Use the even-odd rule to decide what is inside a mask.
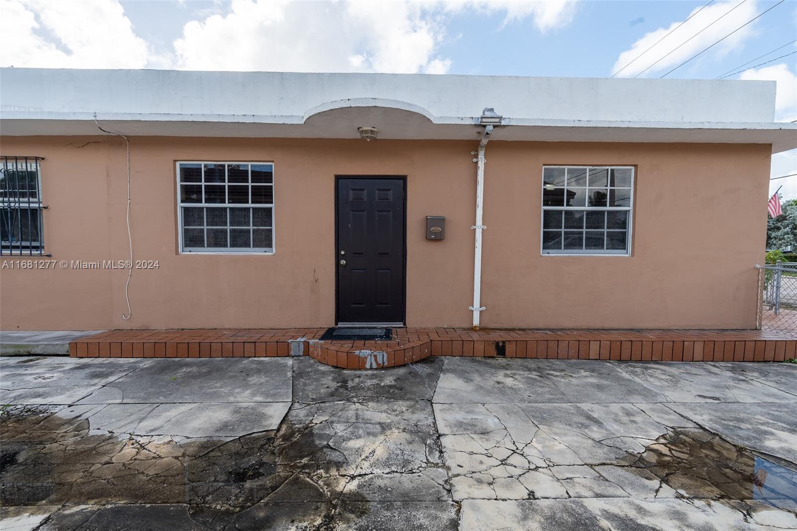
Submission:
[[[200,185],[202,186],[202,203],[183,203],[181,201],[182,195],[180,191],[180,164],[200,164],[202,167],[202,182],[200,183],[182,183],[182,184],[190,184],[190,185]],[[251,203],[251,187],[252,187],[252,169],[249,167],[249,201],[250,203],[205,203],[205,164],[224,164],[224,187],[225,187],[225,195],[228,195],[228,187],[230,185],[229,179],[227,176],[227,166],[230,164],[270,164],[272,168],[272,178],[271,184],[268,183],[264,184],[256,184],[255,186],[270,186],[272,192],[272,202],[271,203]],[[177,186],[177,235],[178,235],[178,251],[179,254],[234,254],[234,255],[246,255],[246,254],[255,254],[259,256],[271,256],[276,254],[277,252],[277,216],[275,213],[274,203],[277,197],[277,176],[276,176],[276,165],[271,160],[257,160],[257,161],[228,161],[228,160],[178,160],[175,162],[175,180]],[[211,185],[217,184],[221,185],[222,183],[210,183]],[[235,184],[235,183],[233,183]],[[226,199],[229,199],[226,197]],[[271,247],[184,247],[183,246],[183,207],[211,207],[211,208],[271,208]],[[229,213],[228,213],[229,216]],[[250,214],[251,216],[251,214]],[[251,220],[251,218],[250,218]],[[234,227],[233,227],[234,228]],[[245,227],[241,227],[245,228]],[[251,221],[249,224],[249,228],[253,228],[251,226]],[[257,227],[254,227],[257,228]],[[268,228],[268,227],[263,227]],[[227,219],[227,242],[230,242],[230,220],[229,217]]]

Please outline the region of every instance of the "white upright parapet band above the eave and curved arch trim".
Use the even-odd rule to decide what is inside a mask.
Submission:
[[[184,70],[0,70],[2,110],[306,116],[351,98],[404,101],[430,115],[645,122],[771,122],[774,81],[589,79]]]

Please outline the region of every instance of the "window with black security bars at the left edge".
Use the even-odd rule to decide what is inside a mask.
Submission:
[[[42,256],[41,157],[0,157],[0,255]]]

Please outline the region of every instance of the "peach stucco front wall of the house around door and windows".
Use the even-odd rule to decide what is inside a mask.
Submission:
[[[475,142],[134,137],[133,316],[123,270],[0,269],[0,328],[291,328],[334,325],[335,175],[407,176],[406,322],[467,327],[473,297]],[[46,251],[128,258],[124,142],[5,137],[40,155]],[[764,254],[766,145],[525,143],[487,148],[484,327],[753,328]],[[272,256],[177,252],[175,160],[275,164]],[[631,257],[540,256],[543,164],[637,167]],[[426,215],[446,240],[424,238]],[[18,258],[3,258],[18,260]]]

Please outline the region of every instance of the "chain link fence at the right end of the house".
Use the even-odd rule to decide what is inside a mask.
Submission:
[[[756,269],[759,328],[797,333],[797,262],[777,262]]]

